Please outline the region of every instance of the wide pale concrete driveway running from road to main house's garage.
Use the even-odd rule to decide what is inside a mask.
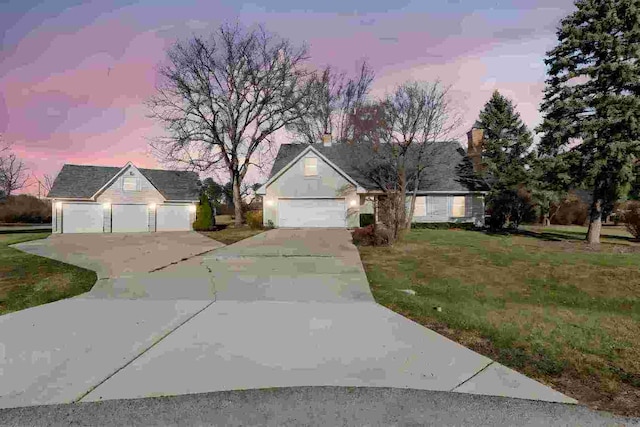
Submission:
[[[289,386],[575,403],[376,304],[346,230],[272,230],[125,279],[0,316],[0,408]]]

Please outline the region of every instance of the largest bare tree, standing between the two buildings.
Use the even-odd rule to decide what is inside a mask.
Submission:
[[[241,184],[249,166],[262,167],[255,159],[269,149],[273,135],[308,110],[306,48],[262,27],[223,25],[209,40],[177,43],[168,57],[148,105],[170,136],[150,145],[164,162],[226,171],[240,226]]]

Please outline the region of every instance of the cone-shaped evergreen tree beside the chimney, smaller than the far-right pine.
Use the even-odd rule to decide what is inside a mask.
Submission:
[[[475,127],[483,129],[481,175],[491,186],[487,207],[491,227],[506,222],[517,227],[526,218],[529,203],[523,188],[529,180],[533,138],[511,100],[497,90],[480,112]]]

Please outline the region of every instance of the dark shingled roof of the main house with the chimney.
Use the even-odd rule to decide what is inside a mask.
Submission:
[[[269,178],[277,174],[309,144],[282,144],[271,168]],[[323,144],[312,144],[320,154],[342,169],[353,180],[368,190],[379,189],[375,182],[367,177],[364,171],[363,156],[349,155],[349,145],[333,143],[329,147]],[[418,146],[411,147],[417,150]],[[353,153],[355,154],[355,153]],[[486,184],[478,181],[472,173],[473,166],[465,150],[457,141],[435,142],[425,156],[426,170],[420,181],[418,191],[484,191]],[[412,190],[408,183],[408,190]]]

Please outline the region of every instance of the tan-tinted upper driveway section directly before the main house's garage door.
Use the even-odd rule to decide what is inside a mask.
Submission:
[[[373,302],[351,234],[277,229],[203,256],[217,301]]]

